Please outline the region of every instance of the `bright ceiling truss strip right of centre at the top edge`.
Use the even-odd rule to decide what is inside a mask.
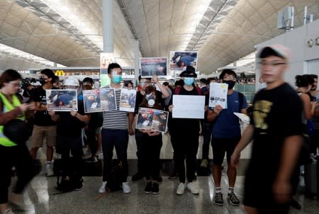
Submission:
[[[191,37],[191,40],[189,40],[189,45],[187,45],[186,50],[199,50],[238,1],[239,0],[212,0],[201,21],[199,21],[196,26],[195,33]]]

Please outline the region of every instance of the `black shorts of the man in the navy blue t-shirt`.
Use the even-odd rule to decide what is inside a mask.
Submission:
[[[213,164],[223,164],[225,152],[227,154],[227,161],[230,162],[230,156],[232,156],[235,147],[240,141],[240,137],[235,138],[215,138],[211,142],[213,147]]]

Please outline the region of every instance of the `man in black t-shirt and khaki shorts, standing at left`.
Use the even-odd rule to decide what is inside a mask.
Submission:
[[[47,176],[54,174],[52,169],[52,157],[57,133],[57,125],[47,113],[47,97],[45,94],[45,90],[52,89],[52,79],[55,79],[55,74],[51,69],[41,70],[39,81],[42,86],[35,89],[33,94],[35,115],[33,133],[31,136],[32,147],[30,150],[31,157],[36,159],[38,149],[43,146],[43,140],[45,138],[47,144]]]

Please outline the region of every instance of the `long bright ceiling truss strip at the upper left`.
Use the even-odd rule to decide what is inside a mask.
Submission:
[[[102,52],[101,48],[94,44],[86,35],[82,34],[75,26],[69,21],[56,13],[49,6],[43,4],[40,0],[15,0],[17,4],[23,6],[25,9],[32,11],[35,16],[38,16],[45,20],[45,22],[51,24],[58,30],[66,33],[70,38],[77,41],[80,45],[86,47],[91,52],[99,54]]]

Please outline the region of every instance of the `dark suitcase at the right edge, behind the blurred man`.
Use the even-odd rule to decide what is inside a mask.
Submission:
[[[318,196],[318,157],[311,157],[311,162],[305,165],[305,190],[306,196]]]

